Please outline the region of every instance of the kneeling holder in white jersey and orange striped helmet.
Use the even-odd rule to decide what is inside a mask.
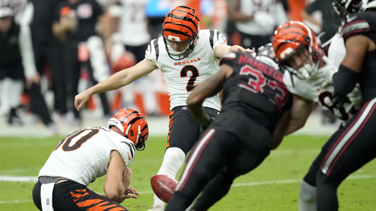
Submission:
[[[33,201],[41,211],[128,210],[120,205],[135,198],[129,187],[136,149],[143,150],[149,129],[143,115],[121,109],[107,127],[87,127],[74,131],[56,146],[33,188]],[[95,193],[87,186],[106,175],[103,190]]]

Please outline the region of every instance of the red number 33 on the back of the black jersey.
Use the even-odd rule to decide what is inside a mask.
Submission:
[[[250,78],[247,84],[239,84],[240,87],[250,90],[254,93],[262,93],[268,95],[269,98],[273,99],[281,109],[288,100],[288,90],[284,84],[281,84],[275,80],[265,78],[264,74],[253,68],[250,65],[244,65],[240,69],[240,75],[249,75]],[[264,89],[269,89],[264,91]]]

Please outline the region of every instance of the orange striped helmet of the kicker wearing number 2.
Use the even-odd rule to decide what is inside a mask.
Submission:
[[[177,6],[171,10],[162,24],[162,36],[165,42],[168,56],[174,60],[184,59],[192,53],[196,38],[200,30],[200,20],[193,8],[188,6]],[[181,52],[174,51],[168,47],[169,42],[189,41],[186,48]]]

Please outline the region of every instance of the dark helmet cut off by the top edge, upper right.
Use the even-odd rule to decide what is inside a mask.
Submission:
[[[362,2],[363,0],[334,0],[332,3],[334,14],[344,19],[346,15],[361,12]]]

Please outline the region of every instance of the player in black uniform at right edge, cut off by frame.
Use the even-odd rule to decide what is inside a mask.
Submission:
[[[359,3],[360,2],[360,3]],[[360,84],[363,105],[335,133],[317,173],[317,209],[338,210],[337,188],[350,174],[376,157],[376,1],[335,1],[334,8],[347,16],[342,36],[346,56],[333,76],[335,98],[341,102]],[[357,11],[359,8],[359,12]]]

